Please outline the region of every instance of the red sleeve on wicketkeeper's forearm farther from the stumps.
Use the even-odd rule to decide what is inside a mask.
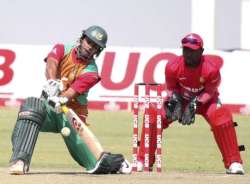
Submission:
[[[218,87],[221,82],[221,75],[219,71],[216,71],[211,74],[209,79],[205,84],[205,90],[198,96],[198,102],[205,104],[207,103],[218,91]]]

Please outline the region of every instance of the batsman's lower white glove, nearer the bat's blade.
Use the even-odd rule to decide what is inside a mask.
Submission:
[[[65,105],[68,102],[68,98],[62,97],[62,96],[52,96],[52,97],[49,97],[47,100],[48,100],[48,104],[58,114],[62,112],[62,108],[61,108],[62,105]]]

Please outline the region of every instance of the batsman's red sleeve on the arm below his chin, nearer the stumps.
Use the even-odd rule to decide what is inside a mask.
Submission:
[[[79,94],[82,94],[97,84],[100,79],[96,72],[87,72],[80,75],[70,87]]]

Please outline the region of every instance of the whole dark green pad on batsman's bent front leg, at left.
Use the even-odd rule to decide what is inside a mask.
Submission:
[[[23,160],[29,166],[39,130],[46,115],[45,104],[34,97],[27,98],[18,113],[12,133],[13,154],[10,162]]]

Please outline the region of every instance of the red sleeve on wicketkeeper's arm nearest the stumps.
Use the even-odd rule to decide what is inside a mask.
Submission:
[[[168,62],[165,68],[165,82],[167,89],[167,96],[172,96],[173,92],[179,93],[180,86],[177,80],[177,62]]]

